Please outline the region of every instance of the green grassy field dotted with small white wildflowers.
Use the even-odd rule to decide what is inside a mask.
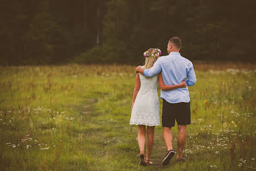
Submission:
[[[0,170],[255,170],[255,64],[195,63],[184,157],[139,166],[134,66],[0,67]],[[158,90],[160,95],[160,90]],[[160,100],[162,105],[162,100]],[[177,149],[177,127],[172,129]]]

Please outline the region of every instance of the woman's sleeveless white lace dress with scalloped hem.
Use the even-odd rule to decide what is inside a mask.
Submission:
[[[157,75],[146,78],[139,73],[141,87],[131,110],[130,125],[160,125],[160,105],[157,94]]]

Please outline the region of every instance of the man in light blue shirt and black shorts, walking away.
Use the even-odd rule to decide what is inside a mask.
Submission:
[[[193,64],[188,59],[180,55],[181,40],[179,37],[170,38],[167,46],[169,55],[161,56],[152,68],[143,69],[141,66],[136,71],[145,77],[152,77],[162,72],[162,79],[166,85],[176,85],[186,80],[188,86],[196,83],[196,75]],[[190,97],[188,87],[178,88],[172,91],[161,90],[162,102],[162,134],[168,152],[165,155],[162,165],[168,165],[170,159],[174,156],[172,147],[171,128],[175,125],[175,120],[179,129],[177,139],[177,159],[176,161],[185,161],[182,157],[186,141],[186,126],[191,123]]]

